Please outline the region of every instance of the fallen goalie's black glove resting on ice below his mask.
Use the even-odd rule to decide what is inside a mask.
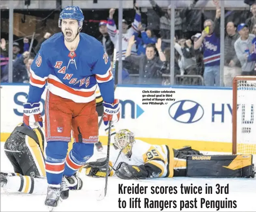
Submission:
[[[124,180],[145,179],[148,177],[148,172],[144,165],[125,165],[116,170],[116,176]]]

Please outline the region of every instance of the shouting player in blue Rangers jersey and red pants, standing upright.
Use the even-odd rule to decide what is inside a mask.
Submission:
[[[103,98],[104,124],[108,125],[116,115],[118,121],[120,116],[119,100],[114,99],[110,59],[97,39],[80,33],[83,21],[78,6],[65,7],[58,22],[61,33],[43,42],[30,68],[30,88],[23,116],[24,124],[30,128],[43,126],[39,101],[47,82],[45,205],[50,207],[58,205],[63,174],[73,176],[93,155],[94,143],[98,142],[97,84]],[[67,155],[71,130],[74,144]]]

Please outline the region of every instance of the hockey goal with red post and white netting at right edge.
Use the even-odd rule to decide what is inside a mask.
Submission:
[[[234,77],[232,108],[232,154],[256,155],[256,76]]]

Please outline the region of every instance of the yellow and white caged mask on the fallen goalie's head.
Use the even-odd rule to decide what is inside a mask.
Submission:
[[[135,142],[134,134],[129,129],[121,129],[114,137],[114,148],[120,149],[127,157],[131,156],[131,148]]]

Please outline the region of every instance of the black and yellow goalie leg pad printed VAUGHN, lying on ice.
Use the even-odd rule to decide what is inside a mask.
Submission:
[[[187,177],[254,178],[253,155],[188,155]]]

